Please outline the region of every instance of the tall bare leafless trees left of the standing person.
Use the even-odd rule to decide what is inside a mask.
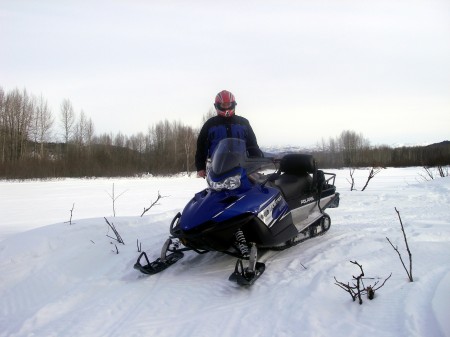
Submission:
[[[27,90],[0,87],[0,178],[173,174],[194,169],[198,130],[162,121],[146,133],[95,134],[65,99],[57,118]]]

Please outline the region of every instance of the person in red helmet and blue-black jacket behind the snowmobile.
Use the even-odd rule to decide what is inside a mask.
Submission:
[[[197,138],[195,166],[198,177],[206,177],[206,162],[213,155],[217,144],[224,138],[243,139],[251,156],[262,156],[250,122],[235,114],[236,105],[231,92],[222,90],[216,95],[214,107],[217,115],[205,122]]]

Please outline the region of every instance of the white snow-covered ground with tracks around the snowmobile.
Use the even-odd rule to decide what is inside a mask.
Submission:
[[[218,253],[189,252],[150,277],[133,269],[136,240],[156,258],[202,179],[0,181],[0,336],[450,336],[450,178],[422,171],[385,169],[364,192],[333,171],[341,204],[329,232],[273,255],[249,288],[228,281],[235,259]],[[356,172],[356,188],[367,175]],[[386,240],[408,263],[395,208],[412,283]],[[119,254],[104,217],[125,241]],[[366,285],[392,272],[374,300],[359,305],[334,284],[359,275],[350,260],[376,278]]]

